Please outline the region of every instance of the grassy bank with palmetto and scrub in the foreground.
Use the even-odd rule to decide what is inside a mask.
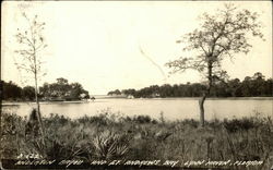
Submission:
[[[150,117],[122,117],[104,110],[76,120],[51,114],[44,118],[45,146],[35,116],[31,119],[2,113],[1,156],[39,154],[48,159],[132,160],[263,160],[273,156],[273,120],[259,116],[213,120],[201,129],[194,120],[168,122]]]

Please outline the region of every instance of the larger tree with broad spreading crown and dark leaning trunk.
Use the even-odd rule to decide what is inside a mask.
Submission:
[[[215,15],[203,13],[200,28],[186,34],[177,42],[183,42],[183,51],[190,51],[193,57],[180,57],[166,63],[171,68],[171,73],[193,69],[204,74],[207,78],[206,90],[199,100],[200,124],[204,126],[204,101],[210,95],[215,81],[223,80],[226,71],[222,69],[222,61],[230,59],[235,53],[248,53],[252,47],[248,42],[249,36],[263,37],[258,13],[248,10],[238,10],[234,4],[225,4],[224,10],[218,10]]]

